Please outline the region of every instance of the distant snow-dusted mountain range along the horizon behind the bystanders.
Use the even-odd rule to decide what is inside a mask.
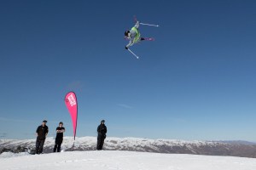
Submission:
[[[0,139],[0,153],[24,152],[34,154],[36,139]],[[44,153],[52,152],[54,138],[47,138]],[[96,150],[96,137],[65,137],[62,151]],[[142,152],[195,154],[207,156],[241,156],[256,158],[256,144],[247,141],[187,141],[177,139],[107,138],[103,150],[131,150]]]

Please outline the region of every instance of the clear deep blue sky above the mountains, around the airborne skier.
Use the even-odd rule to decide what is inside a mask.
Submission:
[[[256,141],[256,2],[1,1],[0,139],[64,122],[77,136]],[[124,32],[144,23],[125,50]]]

